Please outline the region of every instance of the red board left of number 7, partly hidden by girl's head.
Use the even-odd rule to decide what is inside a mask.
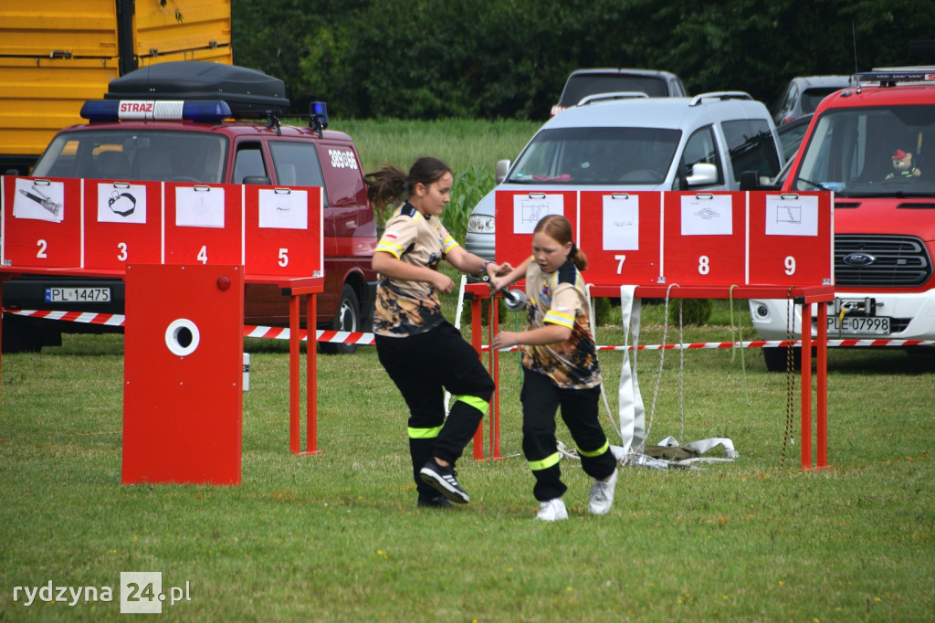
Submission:
[[[532,231],[548,214],[578,221],[577,191],[496,191],[496,261],[516,266],[532,254]]]

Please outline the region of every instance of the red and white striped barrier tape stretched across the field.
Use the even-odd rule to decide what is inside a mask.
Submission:
[[[44,318],[46,320],[61,320],[73,323],[88,323],[92,325],[123,326],[125,316],[116,313],[89,313],[89,312],[40,312],[36,310],[4,310],[4,313],[15,313],[21,316]],[[250,326],[243,327],[245,338],[265,338],[267,340],[288,340],[289,328],[284,326]],[[308,340],[305,329],[299,331],[300,340]],[[349,331],[322,331],[316,332],[317,341],[337,342],[341,344],[371,345],[374,342],[372,333],[352,333]],[[692,350],[709,348],[763,348],[764,346],[788,346],[786,340],[750,340],[750,341],[705,341],[684,344],[640,344],[640,351],[659,350]],[[800,346],[800,340],[793,340],[793,346]],[[827,340],[828,348],[852,346],[935,346],[935,340]],[[489,351],[490,346],[483,344],[483,351]],[[503,353],[517,350],[516,346],[504,349]],[[633,350],[633,346],[597,346],[598,351],[624,351]]]

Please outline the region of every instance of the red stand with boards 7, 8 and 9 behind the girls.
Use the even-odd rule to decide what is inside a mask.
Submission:
[[[644,298],[789,298],[802,326],[827,315],[834,298],[834,210],[831,193],[771,192],[496,192],[496,259],[517,264],[531,253],[532,230],[546,214],[563,214],[588,257],[583,273],[594,297],[619,297],[636,285]],[[472,344],[481,352],[485,283],[473,296]],[[491,306],[491,337],[496,331]],[[812,467],[812,348],[817,350],[817,465],[827,467],[827,326],[802,335],[802,468]],[[492,350],[492,349],[491,349]],[[489,354],[498,374],[496,352]],[[491,456],[499,454],[499,398],[492,403]],[[474,456],[482,456],[482,430]]]

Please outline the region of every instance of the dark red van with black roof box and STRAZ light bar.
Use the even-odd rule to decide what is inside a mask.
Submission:
[[[177,101],[178,118],[152,119],[140,109],[140,102],[152,100]],[[227,107],[222,112],[218,101]],[[82,117],[89,123],[60,131],[31,175],[321,186],[325,286],[317,324],[365,330],[376,285],[370,261],[377,228],[357,149],[348,135],[325,129],[324,105],[312,105],[308,127],[279,122],[287,105],[282,81],[252,69],[195,61],[150,65],[111,81],[105,99],[86,102]],[[108,300],[48,300],[56,287],[106,287]],[[3,293],[8,309],[123,312],[123,284],[116,280],[22,275],[4,283]],[[245,324],[286,325],[288,317],[288,297],[276,285],[247,285]],[[4,323],[7,351],[60,343],[63,331],[102,330],[10,314]]]

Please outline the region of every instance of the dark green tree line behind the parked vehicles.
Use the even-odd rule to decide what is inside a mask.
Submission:
[[[931,0],[234,0],[237,65],[295,112],[544,120],[579,67],[666,69],[768,105],[795,76],[935,65]]]

